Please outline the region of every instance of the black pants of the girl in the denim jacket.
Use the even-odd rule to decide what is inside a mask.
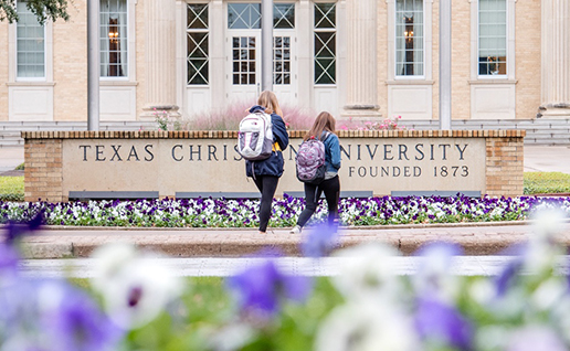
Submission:
[[[299,215],[297,225],[305,226],[315,210],[317,210],[318,199],[325,192],[325,199],[328,205],[328,223],[334,224],[338,219],[338,198],[340,193],[340,181],[338,176],[323,181],[318,185],[305,183],[305,202],[307,206]]]

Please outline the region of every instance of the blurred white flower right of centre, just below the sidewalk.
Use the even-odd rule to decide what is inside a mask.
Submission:
[[[398,251],[374,243],[345,248],[335,256],[346,258],[334,284],[347,298],[402,297],[402,281],[393,267]]]

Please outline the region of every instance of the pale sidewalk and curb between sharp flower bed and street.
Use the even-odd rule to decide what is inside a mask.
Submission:
[[[308,231],[308,230],[307,230]],[[384,227],[346,228],[341,247],[369,242],[381,242],[412,255],[422,245],[445,241],[464,248],[465,255],[496,255],[522,244],[531,234],[526,222],[498,222],[448,225],[401,225]],[[300,256],[302,234],[289,234],[288,228],[276,228],[267,235],[256,230],[241,228],[44,228],[27,237],[28,258],[88,257],[99,245],[127,242],[161,252],[172,257],[243,257],[266,248],[278,248],[285,256]],[[570,222],[561,226],[559,240],[570,247]]]

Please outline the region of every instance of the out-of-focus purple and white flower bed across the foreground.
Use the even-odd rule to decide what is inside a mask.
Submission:
[[[462,253],[443,243],[416,253],[413,276],[398,276],[398,252],[368,244],[328,246],[344,264],[316,281],[283,272],[266,252],[228,279],[189,285],[162,257],[110,244],[96,249],[94,275],[78,287],[20,274],[18,243],[38,228],[35,216],[28,227],[9,225],[0,243],[0,349],[564,351],[570,290],[556,244],[563,217],[538,217],[496,277],[454,274]],[[319,227],[305,241],[327,236],[335,231]]]

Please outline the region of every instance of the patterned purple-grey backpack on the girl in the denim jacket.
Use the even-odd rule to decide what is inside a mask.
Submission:
[[[317,185],[325,180],[327,167],[325,163],[325,143],[323,141],[328,135],[327,132],[323,140],[310,137],[310,139],[303,141],[300,145],[295,157],[297,179],[299,181]]]

